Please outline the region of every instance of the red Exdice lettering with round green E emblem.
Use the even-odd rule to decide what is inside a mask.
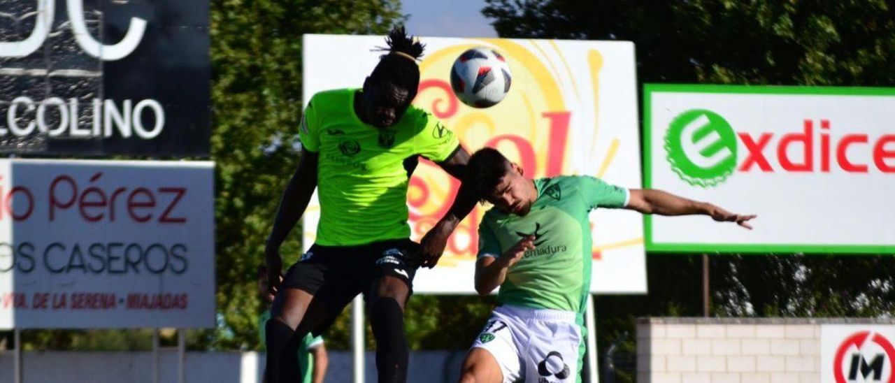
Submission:
[[[832,135],[829,119],[801,121],[801,132],[734,132],[724,117],[695,109],[678,115],[665,135],[672,170],[686,183],[710,187],[737,172],[895,173],[895,134]],[[816,129],[818,126],[820,129]],[[832,136],[832,137],[831,137]],[[737,141],[746,151],[737,166]],[[853,152],[871,149],[862,157]],[[854,149],[854,150],[850,150]],[[799,154],[793,154],[798,152]]]

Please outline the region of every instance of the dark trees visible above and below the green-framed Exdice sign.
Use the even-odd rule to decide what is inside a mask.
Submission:
[[[891,86],[891,1],[486,0],[502,38],[635,42],[644,82]],[[699,316],[699,255],[648,255],[650,294],[597,299],[601,347],[638,316]],[[718,316],[883,316],[891,255],[720,255],[711,260]],[[633,349],[633,342],[623,346]],[[622,374],[623,380],[633,379]]]

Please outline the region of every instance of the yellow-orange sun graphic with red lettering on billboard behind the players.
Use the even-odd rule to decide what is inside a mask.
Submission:
[[[497,148],[533,177],[563,173],[567,170],[570,113],[559,81],[528,47],[499,39],[476,42],[479,44],[445,47],[428,55],[420,64],[422,81],[414,104],[428,107],[470,151],[486,146]],[[456,57],[476,45],[498,50],[513,74],[507,98],[485,109],[460,103],[447,81]],[[425,234],[447,212],[458,188],[459,182],[454,178],[435,164],[422,161],[410,181],[407,196],[415,238]],[[485,207],[476,207],[457,227],[442,262],[474,257],[478,223],[484,211]]]

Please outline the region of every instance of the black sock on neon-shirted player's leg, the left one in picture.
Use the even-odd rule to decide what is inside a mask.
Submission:
[[[298,381],[299,369],[298,345],[301,339],[297,339],[295,331],[279,319],[268,319],[264,325],[264,339],[268,345],[267,366],[265,367],[265,381],[267,383],[294,383]]]

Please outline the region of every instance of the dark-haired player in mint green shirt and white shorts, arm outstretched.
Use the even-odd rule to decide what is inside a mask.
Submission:
[[[592,209],[703,214],[750,229],[755,217],[591,176],[527,179],[496,149],[473,154],[464,183],[494,205],[479,225],[475,290],[484,295],[500,286],[499,307],[466,355],[464,383],[580,381]]]

